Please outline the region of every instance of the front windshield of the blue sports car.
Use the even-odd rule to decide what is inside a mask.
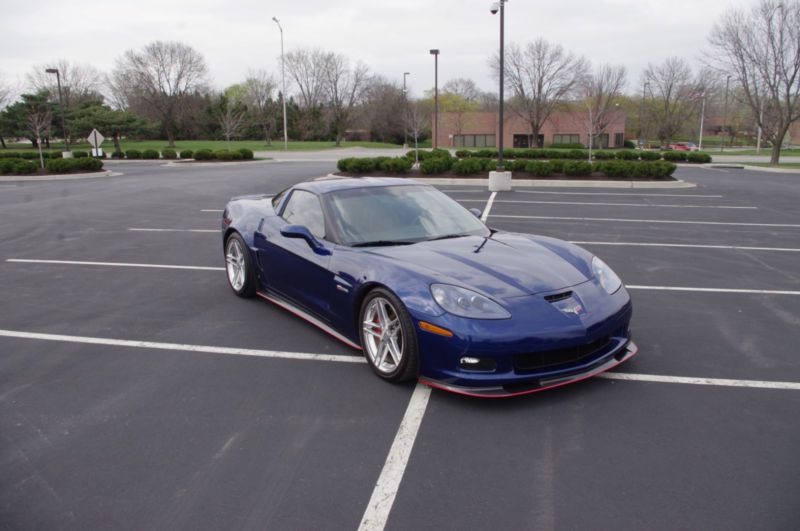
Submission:
[[[345,245],[400,245],[490,235],[471,212],[431,186],[380,186],[325,195]]]

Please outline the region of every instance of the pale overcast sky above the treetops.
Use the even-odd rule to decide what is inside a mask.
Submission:
[[[279,79],[280,33],[286,50],[320,47],[366,63],[412,95],[433,86],[430,48],[439,48],[440,85],[474,79],[496,90],[487,58],[498,49],[499,16],[485,0],[0,0],[0,73],[24,83],[34,65],[67,59],[110,71],[125,50],[178,40],[200,51],[212,84],[242,81],[251,68]],[[754,0],[510,0],[506,42],[537,37],[593,63],[624,64],[636,90],[648,62],[675,55],[696,63],[714,22]]]

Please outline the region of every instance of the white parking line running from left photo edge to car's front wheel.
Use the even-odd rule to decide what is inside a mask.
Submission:
[[[132,341],[129,339],[107,339],[101,337],[69,336],[61,334],[39,334],[33,332],[19,332],[16,330],[0,330],[0,337],[38,339],[43,341],[60,341],[65,343],[82,343],[88,345],[108,345],[114,347],[202,352],[205,354],[225,354],[230,356],[257,356],[260,358],[280,358],[290,360],[366,363],[366,359],[363,356],[337,356],[333,354],[311,354],[307,352],[286,352],[280,350],[213,347],[208,345],[187,345],[184,343],[157,343],[154,341]]]

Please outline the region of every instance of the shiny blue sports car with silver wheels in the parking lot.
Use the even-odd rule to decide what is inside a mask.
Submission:
[[[381,378],[500,397],[632,357],[631,299],[599,258],[490,229],[409,179],[322,178],[232,199],[228,282],[364,350]]]

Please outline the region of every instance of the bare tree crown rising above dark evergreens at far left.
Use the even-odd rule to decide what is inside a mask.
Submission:
[[[64,106],[71,109],[78,103],[97,99],[103,89],[103,74],[98,69],[88,64],[70,63],[66,59],[51,61],[37,65],[28,72],[26,78],[28,85],[36,92],[47,91],[51,98],[58,98],[58,83],[56,76],[48,74],[45,70],[57,68],[61,78],[61,92],[64,96]]]

